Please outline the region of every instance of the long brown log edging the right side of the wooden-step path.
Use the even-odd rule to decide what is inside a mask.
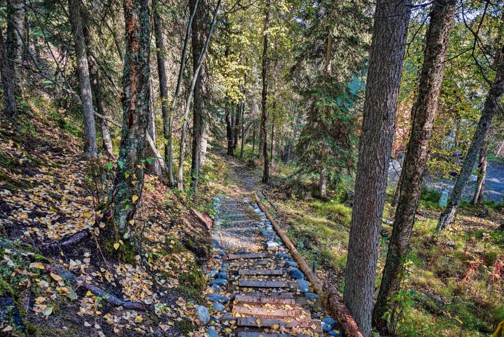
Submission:
[[[290,251],[292,257],[296,261],[299,269],[304,273],[308,281],[311,283],[311,287],[321,298],[326,298],[327,303],[331,312],[331,315],[336,319],[340,329],[343,331],[345,336],[349,337],[362,337],[362,334],[357,327],[357,323],[353,319],[350,311],[343,302],[343,296],[341,293],[331,284],[323,284],[321,279],[311,271],[311,268],[306,263],[304,258],[299,254],[296,247],[292,244],[290,239],[285,235],[282,229],[278,226],[276,221],[271,217],[270,213],[261,202],[257,192],[254,193],[256,196],[256,202],[259,208],[266,214],[266,217],[271,221],[273,229],[277,235],[282,239],[285,247]]]

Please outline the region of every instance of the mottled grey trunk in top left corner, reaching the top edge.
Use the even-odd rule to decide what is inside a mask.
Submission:
[[[14,82],[14,94],[24,99],[23,62],[25,43],[27,42],[28,27],[26,20],[25,2],[22,0],[7,0],[7,54],[13,62],[11,64]],[[28,45],[28,43],[26,43]]]

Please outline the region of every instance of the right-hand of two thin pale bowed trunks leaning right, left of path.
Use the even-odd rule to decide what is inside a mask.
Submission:
[[[210,26],[210,30],[208,31],[207,39],[205,40],[205,44],[203,45],[203,49],[200,52],[197,66],[194,69],[193,81],[191,83],[191,88],[189,89],[189,93],[187,95],[187,101],[185,102],[185,110],[184,110],[183,123],[182,123],[182,132],[180,134],[180,148],[179,148],[179,152],[178,152],[177,187],[180,191],[183,189],[183,163],[184,163],[184,152],[185,152],[185,149],[184,149],[185,132],[187,129],[187,118],[189,116],[189,108],[191,106],[191,101],[193,99],[193,94],[195,91],[196,82],[198,81],[198,77],[200,75],[201,67],[203,65],[203,62],[205,61],[205,56],[207,54],[208,44],[210,43],[210,39],[212,38],[212,33],[214,31],[215,24],[217,23],[217,13],[219,12],[219,7],[220,7],[221,2],[222,2],[222,0],[219,0],[217,2],[217,5],[215,6],[214,17],[212,19],[212,25]],[[193,50],[193,52],[195,52],[195,51]]]

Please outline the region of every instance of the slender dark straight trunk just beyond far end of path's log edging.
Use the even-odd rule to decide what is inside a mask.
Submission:
[[[264,28],[263,28],[263,92],[261,95],[261,142],[263,146],[264,156],[264,170],[263,170],[263,183],[267,184],[270,180],[270,163],[268,160],[268,139],[266,135],[266,123],[268,122],[268,111],[266,108],[268,98],[268,26],[270,22],[270,6],[271,0],[266,0]],[[261,152],[261,150],[260,150]]]

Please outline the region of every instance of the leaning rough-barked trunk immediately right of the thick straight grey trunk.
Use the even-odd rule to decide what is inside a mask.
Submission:
[[[372,313],[373,323],[377,326],[386,324],[382,317],[388,310],[388,302],[396,296],[402,279],[403,259],[406,257],[415,222],[429,141],[443,82],[444,62],[453,27],[455,5],[456,0],[436,0],[430,10],[418,95],[411,111],[414,122],[401,170],[399,202],[380,292]]]

